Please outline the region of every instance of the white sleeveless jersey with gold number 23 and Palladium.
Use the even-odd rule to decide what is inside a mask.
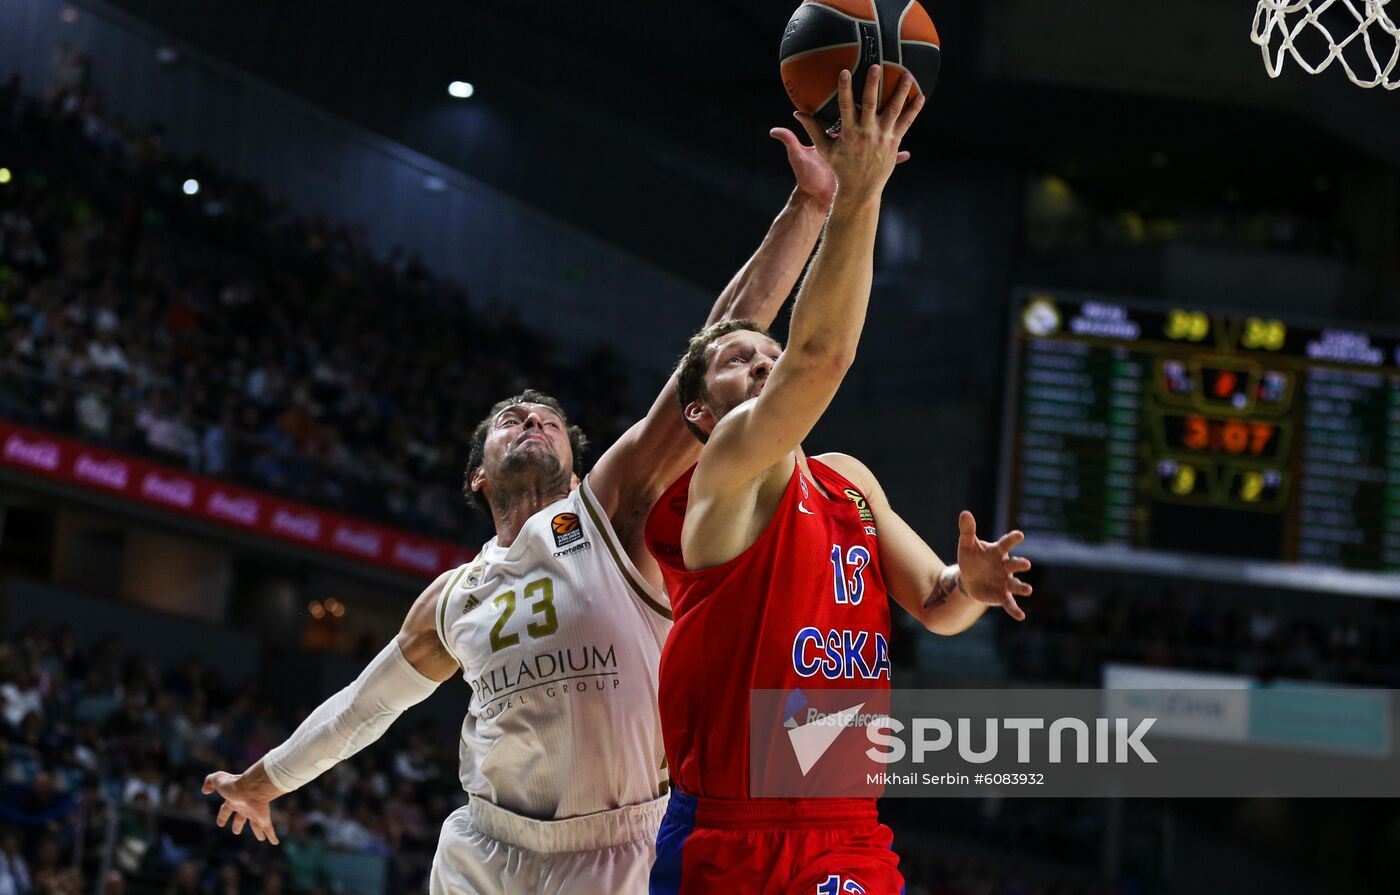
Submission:
[[[669,775],[657,669],[671,604],[584,479],[491,538],[442,591],[438,637],[462,667],[462,787],[519,815],[571,818],[651,801]]]

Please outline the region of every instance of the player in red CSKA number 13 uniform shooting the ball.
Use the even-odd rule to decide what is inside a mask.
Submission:
[[[784,352],[753,324],[724,324],[692,340],[678,371],[686,420],[704,450],[647,528],[675,612],[661,660],[673,790],[657,840],[654,895],[899,892],[903,878],[875,791],[752,797],[750,780],[762,780],[752,775],[767,765],[750,768],[750,693],[888,695],[886,595],[944,634],[965,630],[988,605],[1025,618],[1015,597],[1030,588],[1015,576],[1030,564],[1009,556],[1019,532],[980,541],[963,513],[959,564],[945,566],[860,461],[808,458],[801,448],[860,340],[881,195],[923,105],[921,97],[906,104],[909,87],[879,112],[875,69],[857,109],[843,71],[840,134],[832,139],[799,116],[836,172],[837,192],[792,311],[791,347]]]

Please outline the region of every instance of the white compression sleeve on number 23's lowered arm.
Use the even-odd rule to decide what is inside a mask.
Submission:
[[[283,793],[311,783],[382,737],[395,719],[437,688],[438,682],[409,664],[399,641],[392,640],[350,686],[321,703],[286,742],[263,756],[267,779]]]

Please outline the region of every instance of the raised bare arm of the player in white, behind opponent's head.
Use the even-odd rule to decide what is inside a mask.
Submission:
[[[770,325],[792,294],[832,207],[836,176],[820,153],[802,146],[785,127],[769,133],[787,150],[797,186],[763,244],[720,293],[706,318],[707,326],[727,319]],[[627,508],[622,506],[624,499],[644,513],[699,455],[700,444],[680,416],[672,375],[647,416],[598,459],[589,485],[616,524],[619,510]]]

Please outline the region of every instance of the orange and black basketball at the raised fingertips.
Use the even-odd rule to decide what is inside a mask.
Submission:
[[[917,0],[805,0],[788,20],[778,57],[792,105],[832,126],[840,119],[841,69],[850,69],[860,99],[869,67],[882,64],[883,106],[904,71],[914,76],[916,94],[931,92],[939,53],[938,29]]]

